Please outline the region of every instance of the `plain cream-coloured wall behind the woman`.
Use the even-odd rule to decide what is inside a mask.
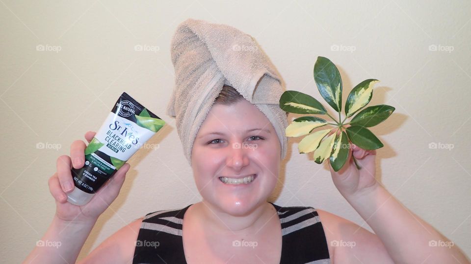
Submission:
[[[79,258],[134,219],[200,200],[175,120],[165,115],[174,81],[170,42],[187,18],[252,35],[287,89],[326,108],[313,78],[317,56],[338,66],[343,101],[359,82],[380,80],[368,106],[396,110],[371,129],[385,145],[377,151],[378,179],[470,256],[470,11],[469,1],[1,1],[1,262],[22,261],[41,239],[55,211],[48,178],[56,158],[98,130],[123,91],[168,125],[148,142],[157,149],[131,158],[119,197]],[[300,139],[289,139],[273,200],[371,230],[335,188],[327,164],[297,153]]]

